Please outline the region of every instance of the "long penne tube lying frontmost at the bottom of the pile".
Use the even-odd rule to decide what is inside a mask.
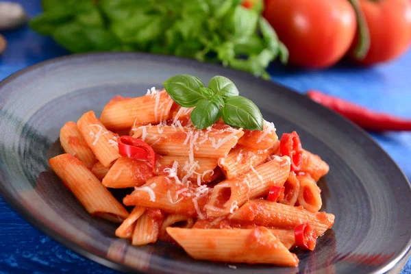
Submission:
[[[192,258],[218,262],[297,266],[299,260],[265,227],[254,229],[185,229],[167,233]]]

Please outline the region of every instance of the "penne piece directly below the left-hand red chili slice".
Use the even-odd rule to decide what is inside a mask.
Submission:
[[[132,188],[142,186],[153,176],[153,168],[147,162],[121,157],[114,162],[101,183],[108,188]]]

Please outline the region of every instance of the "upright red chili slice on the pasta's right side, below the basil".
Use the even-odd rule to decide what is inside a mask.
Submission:
[[[279,153],[291,159],[291,171],[299,171],[303,164],[303,147],[297,132],[284,133],[279,142]]]

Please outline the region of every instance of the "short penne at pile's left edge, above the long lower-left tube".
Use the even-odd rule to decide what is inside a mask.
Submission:
[[[94,153],[86,144],[74,122],[67,122],[60,129],[60,143],[66,153],[73,154],[75,158],[84,162],[88,169],[91,169],[92,165],[97,162]]]

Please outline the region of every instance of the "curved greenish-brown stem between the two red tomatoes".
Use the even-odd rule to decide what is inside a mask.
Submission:
[[[362,60],[369,52],[371,45],[369,27],[366,24],[365,16],[360,7],[359,0],[349,0],[349,3],[351,3],[356,12],[358,27],[358,40],[357,45],[355,45],[353,49],[353,55],[358,60]]]

